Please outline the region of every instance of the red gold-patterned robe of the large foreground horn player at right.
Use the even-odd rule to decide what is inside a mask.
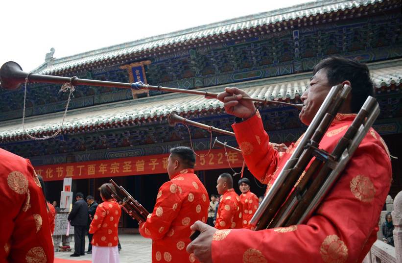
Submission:
[[[320,143],[331,152],[355,115],[338,114]],[[260,114],[233,125],[247,167],[270,187],[293,152],[268,146]],[[300,139],[299,139],[300,141]],[[298,141],[298,142],[299,142]],[[296,142],[297,143],[297,142]],[[361,262],[377,239],[378,218],[391,183],[385,143],[370,129],[318,210],[306,224],[261,231],[218,230],[214,263]]]

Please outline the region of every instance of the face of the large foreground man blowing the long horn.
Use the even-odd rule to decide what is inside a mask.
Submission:
[[[309,125],[311,123],[330,90],[327,71],[321,69],[311,78],[310,87],[300,97],[303,101],[303,108],[299,113],[299,118],[304,124]]]

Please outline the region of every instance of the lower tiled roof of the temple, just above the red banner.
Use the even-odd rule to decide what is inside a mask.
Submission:
[[[396,90],[400,89],[402,65],[371,70],[371,74],[378,93],[381,92],[381,89],[386,89],[391,85]],[[290,77],[236,83],[236,86],[245,90],[252,97],[270,100],[298,100],[300,95],[306,91],[310,76],[311,72]],[[202,90],[219,92],[222,89],[223,86],[216,86]],[[177,93],[166,94],[71,110],[67,113],[63,131],[71,133],[102,126],[141,125],[147,120],[165,118],[172,111],[191,114],[201,111],[216,112],[221,108],[222,103],[216,99]],[[29,117],[25,120],[25,129],[30,134],[49,135],[59,128],[61,120],[62,113]],[[21,122],[21,119],[0,122],[0,141],[23,139],[24,131]]]

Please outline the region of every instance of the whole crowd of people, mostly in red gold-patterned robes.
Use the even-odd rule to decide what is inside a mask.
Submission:
[[[367,66],[351,59],[324,59],[313,73],[309,89],[301,96],[304,106],[299,118],[306,125],[333,85],[352,87],[320,144],[331,152],[367,96],[373,96],[373,84]],[[272,148],[259,111],[243,97],[248,95],[242,90],[225,88],[217,98],[226,112],[236,117],[233,129],[246,165],[268,191],[298,142],[286,152]],[[52,262],[52,205],[44,198],[38,176],[28,160],[2,149],[0,160],[0,189],[7,193],[0,196],[0,201],[8,211],[0,220],[0,245],[4,246],[1,260]],[[392,175],[388,149],[378,133],[370,129],[340,179],[306,223],[252,231],[250,219],[262,197],[250,191],[249,179],[238,181],[241,193],[237,195],[233,176],[223,173],[217,179],[215,196],[207,192],[194,165],[195,153],[189,147],[170,149],[169,180],[160,187],[153,211],[139,225],[140,234],[152,239],[152,262],[361,262],[377,238],[378,218]],[[87,253],[92,252],[93,262],[119,262],[121,208],[107,186],[114,188],[111,184],[100,186],[103,202],[99,204],[92,196],[85,201],[82,193],[75,194],[76,202],[68,217],[74,226],[72,257],[84,255],[88,233],[91,244]],[[358,217],[353,216],[356,212]],[[200,234],[191,241],[189,236],[194,231]],[[392,244],[390,215],[382,231],[384,242]]]

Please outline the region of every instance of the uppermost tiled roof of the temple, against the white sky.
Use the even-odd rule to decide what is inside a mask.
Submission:
[[[33,72],[51,74],[86,64],[139,53],[144,50],[151,50],[153,48],[222,35],[238,30],[247,30],[263,25],[282,23],[299,18],[315,17],[317,15],[368,6],[383,1],[387,0],[332,0],[330,3],[328,0],[312,1],[288,8],[202,25],[116,46],[92,50],[69,57],[53,59],[48,65],[44,63]]]

